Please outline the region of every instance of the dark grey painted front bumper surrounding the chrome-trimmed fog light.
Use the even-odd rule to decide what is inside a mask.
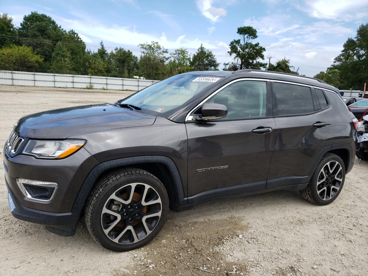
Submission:
[[[25,207],[53,213],[71,212],[86,177],[98,165],[84,148],[60,160],[36,159],[21,154],[11,157],[5,151],[3,154],[5,178],[18,201]],[[25,197],[17,178],[54,182],[58,186],[50,201],[36,201]]]

